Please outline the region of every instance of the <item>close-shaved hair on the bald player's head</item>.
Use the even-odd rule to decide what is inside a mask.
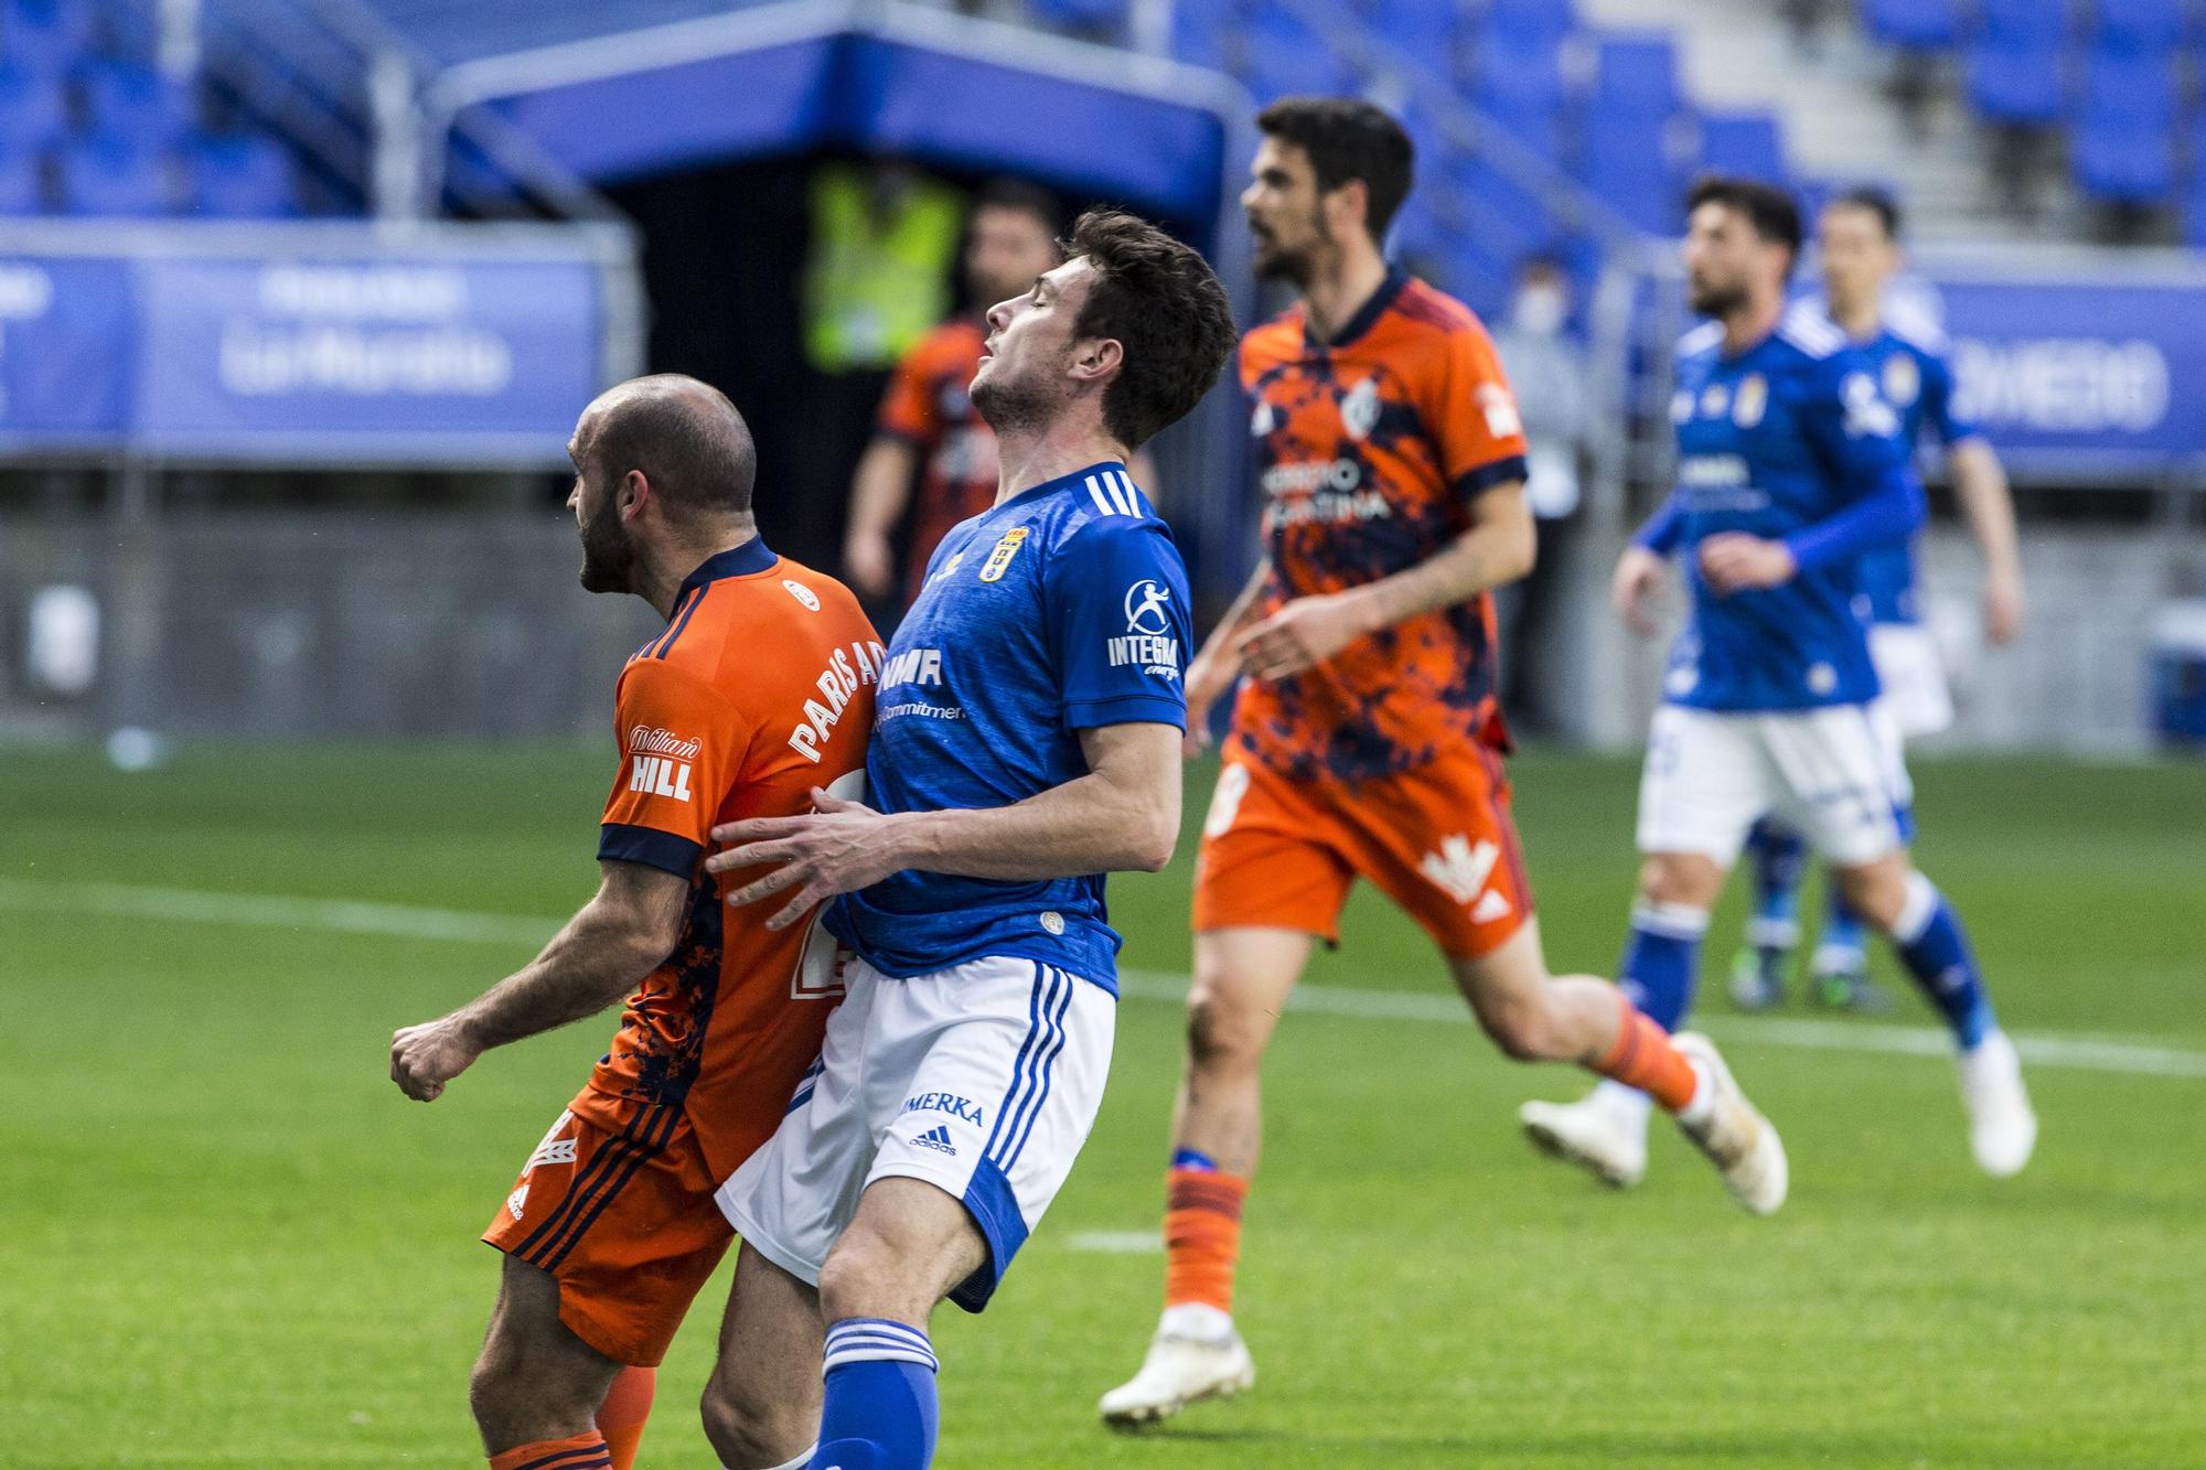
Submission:
[[[759,450],[726,393],[682,373],[620,386],[624,391],[602,408],[591,446],[607,481],[620,483],[629,470],[642,470],[671,505],[750,514]]]

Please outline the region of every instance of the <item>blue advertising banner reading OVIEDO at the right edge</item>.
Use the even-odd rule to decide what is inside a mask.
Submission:
[[[2206,461],[2206,276],[1930,276],[1957,408],[2018,466],[2122,475]]]

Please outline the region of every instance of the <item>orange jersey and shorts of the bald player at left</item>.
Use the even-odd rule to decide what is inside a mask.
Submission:
[[[840,583],[748,541],[620,673],[598,856],[684,878],[688,914],[483,1232],[558,1276],[560,1320],[618,1362],[664,1355],[732,1238],[713,1190],[772,1137],[840,998],[834,938],[728,909],[757,874],[706,874],[706,843],[812,810],[814,786],[863,792],[880,660]]]

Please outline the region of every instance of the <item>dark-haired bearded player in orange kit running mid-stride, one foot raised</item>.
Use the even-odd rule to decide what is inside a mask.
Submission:
[[[1242,207],[1257,269],[1299,302],[1242,340],[1266,556],[1187,671],[1189,731],[1246,682],[1196,867],[1165,1315],[1141,1373],[1103,1395],[1114,1426],[1255,1382],[1231,1313],[1257,1066],[1359,876],[1432,936],[1502,1051],[1639,1077],[1743,1205],[1785,1199],[1776,1130],[1705,1037],[1672,1042],[1610,982],[1546,971],[1489,598],[1533,558],[1524,437],[1478,318],[1381,256],[1410,139],[1374,106],[1315,97],[1257,128]]]

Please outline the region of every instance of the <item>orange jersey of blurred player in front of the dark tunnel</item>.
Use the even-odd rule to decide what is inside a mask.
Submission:
[[[880,400],[876,430],[920,452],[907,603],[927,585],[927,558],[942,536],[995,505],[995,430],[966,397],[984,342],[986,331],[975,318],[942,322],[904,353],[889,395]]]

